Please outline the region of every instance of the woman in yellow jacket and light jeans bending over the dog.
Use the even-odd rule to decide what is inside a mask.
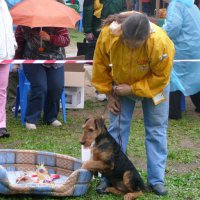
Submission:
[[[165,31],[133,12],[106,19],[94,54],[92,83],[108,96],[108,131],[124,152],[135,102],[142,102],[147,182],[158,195],[167,195],[164,172],[173,57],[174,45]]]

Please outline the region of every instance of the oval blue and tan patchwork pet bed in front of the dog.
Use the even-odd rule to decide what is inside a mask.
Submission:
[[[20,173],[35,171],[44,163],[49,174],[59,174],[54,184],[17,184]],[[0,149],[0,194],[36,194],[49,196],[84,195],[92,173],[80,169],[82,161],[70,156],[44,151]]]

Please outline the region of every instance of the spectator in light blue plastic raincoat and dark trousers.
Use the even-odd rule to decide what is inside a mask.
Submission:
[[[169,3],[163,28],[175,45],[175,60],[200,59],[200,11],[194,0]],[[175,62],[171,74],[169,118],[181,118],[181,95],[191,96],[200,112],[200,62]]]

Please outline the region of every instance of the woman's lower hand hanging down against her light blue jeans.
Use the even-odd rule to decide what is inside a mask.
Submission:
[[[119,98],[115,94],[107,94],[108,98],[108,110],[112,112],[114,115],[118,115],[120,113],[120,103]]]

